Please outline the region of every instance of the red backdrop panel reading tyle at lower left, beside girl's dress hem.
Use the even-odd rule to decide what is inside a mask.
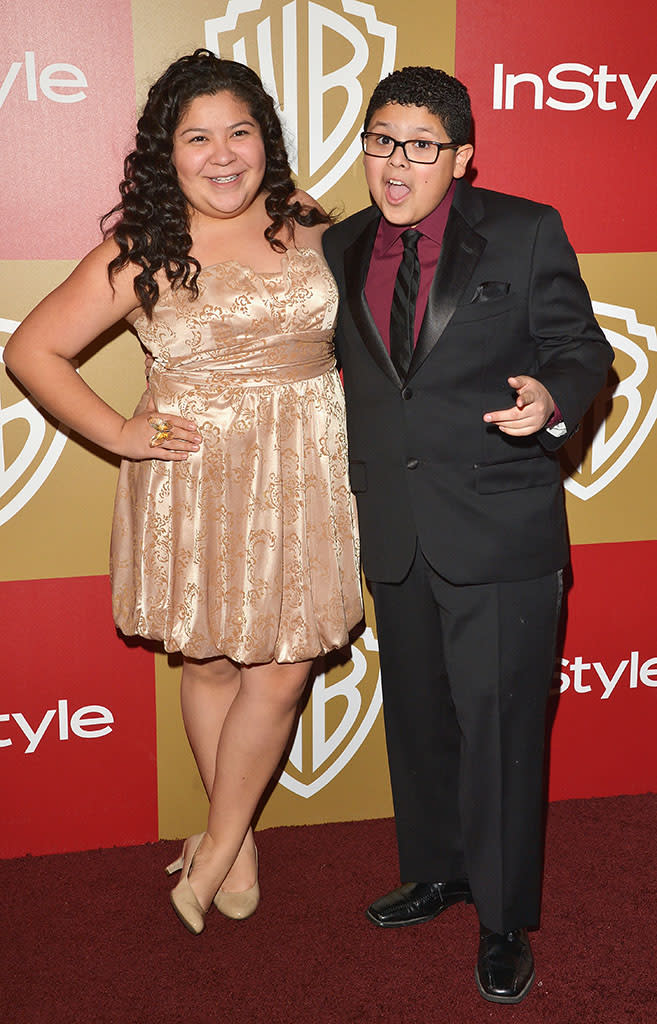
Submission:
[[[106,577],[0,583],[0,856],[158,838],[152,654]]]

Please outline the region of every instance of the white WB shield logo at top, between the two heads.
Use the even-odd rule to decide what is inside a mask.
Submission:
[[[208,49],[258,72],[292,169],[319,199],[360,154],[367,99],[395,66],[396,27],[360,0],[228,0],[205,27]]]

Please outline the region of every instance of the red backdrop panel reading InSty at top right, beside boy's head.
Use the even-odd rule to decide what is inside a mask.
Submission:
[[[654,0],[457,0],[455,56],[476,184],[556,206],[577,252],[655,249]]]

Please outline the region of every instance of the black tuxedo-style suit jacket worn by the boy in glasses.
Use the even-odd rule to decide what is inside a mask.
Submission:
[[[556,449],[602,386],[613,349],[552,207],[456,183],[441,255],[405,380],[364,298],[380,219],[361,210],[324,233],[340,290],[352,490],[365,575],[398,582],[417,539],[454,583],[544,575],[568,560]],[[483,414],[515,400],[529,374],[568,434],[513,438]]]

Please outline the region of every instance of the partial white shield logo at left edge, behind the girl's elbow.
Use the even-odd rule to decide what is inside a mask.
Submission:
[[[0,337],[17,327],[16,321],[0,317]],[[48,478],[68,437],[34,402],[20,396],[4,370],[3,353],[0,345],[0,525],[19,512]]]

